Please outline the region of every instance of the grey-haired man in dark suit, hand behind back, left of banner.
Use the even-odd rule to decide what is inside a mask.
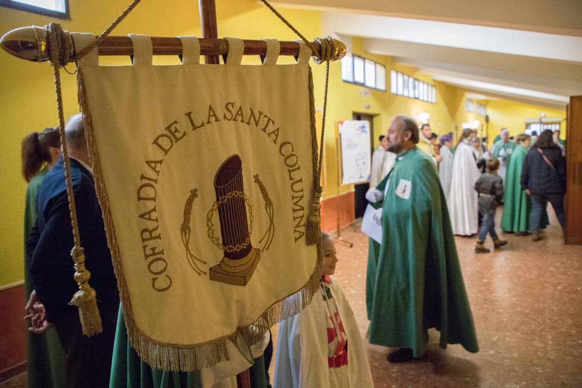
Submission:
[[[31,331],[39,333],[54,324],[67,354],[69,387],[109,387],[119,293],[101,208],[95,195],[81,115],[69,120],[66,136],[81,246],[85,251],[86,267],[91,272],[90,284],[97,291],[103,332],[83,336],[79,312],[69,305],[78,287],[73,280],[70,257],[74,243],[62,158],[47,173],[39,188],[37,224],[27,241],[27,251],[32,257],[30,275],[36,284],[27,307],[31,314],[42,312],[42,309],[45,313],[44,319],[38,319],[41,313],[36,315]]]

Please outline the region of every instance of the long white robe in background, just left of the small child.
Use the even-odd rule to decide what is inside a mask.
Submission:
[[[454,234],[471,236],[477,233],[478,194],[475,191],[475,182],[480,176],[473,157],[473,146],[467,141],[459,143],[455,149],[453,176],[446,201]]]

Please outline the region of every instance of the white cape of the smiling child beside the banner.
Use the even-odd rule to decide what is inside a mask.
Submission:
[[[279,324],[274,388],[373,387],[368,357],[354,313],[335,278],[328,284],[347,334],[347,365],[329,368],[327,316],[329,307],[321,292],[299,314]],[[321,287],[320,287],[321,289]],[[345,378],[347,374],[347,385]],[[344,383],[338,383],[342,380]]]

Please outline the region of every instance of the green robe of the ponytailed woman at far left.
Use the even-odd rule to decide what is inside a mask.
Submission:
[[[41,169],[30,180],[26,188],[26,200],[24,202],[24,244],[29,239],[30,232],[36,223],[36,198],[38,187],[42,183],[48,168]],[[30,292],[34,290],[34,284],[29,275],[30,257],[24,248],[24,298],[28,301]],[[60,388],[66,387],[65,376],[65,351],[55,329],[50,329],[44,334],[27,333],[27,369],[29,387]]]

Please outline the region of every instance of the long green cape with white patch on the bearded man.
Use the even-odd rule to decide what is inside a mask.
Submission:
[[[434,163],[414,147],[398,156],[378,190],[384,190],[388,180],[370,343],[411,348],[414,357],[421,357],[427,330],[436,328],[442,348],[460,343],[477,352],[473,315]]]

